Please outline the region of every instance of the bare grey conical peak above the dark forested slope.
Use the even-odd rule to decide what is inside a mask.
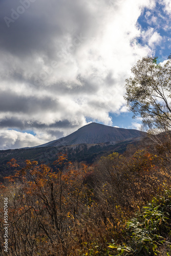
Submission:
[[[144,133],[138,130],[122,129],[93,122],[81,127],[76,132],[66,137],[50,141],[46,144],[42,144],[36,147],[97,144],[105,142],[117,143],[119,141],[133,139],[143,135]]]

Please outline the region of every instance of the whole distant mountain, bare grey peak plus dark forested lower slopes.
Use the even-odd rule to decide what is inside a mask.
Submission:
[[[129,144],[135,146],[145,133],[138,130],[121,129],[99,123],[90,123],[76,132],[58,140],[30,148],[0,151],[0,182],[13,169],[7,162],[15,158],[20,166],[25,160],[52,164],[59,153],[67,154],[68,160],[93,163],[97,158],[113,152],[123,153]]]

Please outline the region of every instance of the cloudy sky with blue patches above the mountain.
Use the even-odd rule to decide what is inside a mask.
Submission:
[[[171,52],[169,0],[0,0],[0,150],[90,122],[140,129],[125,79]]]

